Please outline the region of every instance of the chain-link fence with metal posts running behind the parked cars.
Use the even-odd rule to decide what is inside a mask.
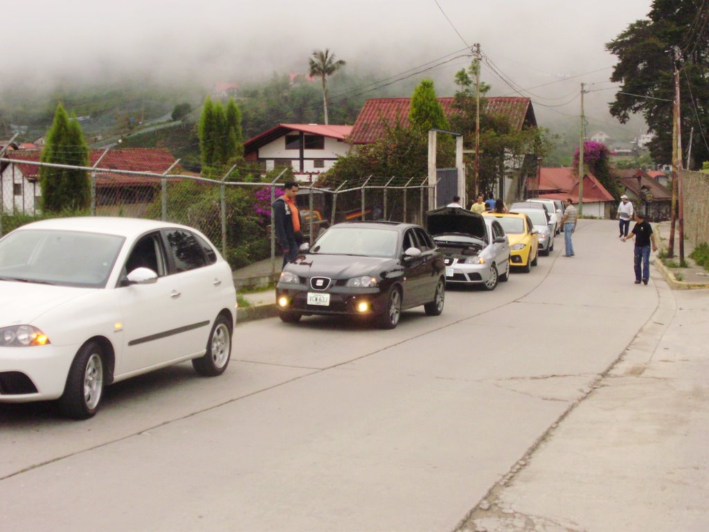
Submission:
[[[125,216],[183,223],[199,229],[220,249],[237,279],[276,275],[281,251],[275,241],[271,204],[283,193],[281,172],[270,182],[237,182],[194,175],[158,174],[114,167],[52,165],[0,157],[0,235],[30,221],[57,216]],[[26,166],[23,169],[17,165]],[[91,201],[86,211],[44,213],[40,166],[85,170]],[[173,165],[174,166],[174,165]],[[232,169],[233,170],[233,169]],[[300,183],[296,197],[303,233],[311,240],[334,223],[390,220],[422,223],[428,209],[428,178],[363,177],[337,184]]]

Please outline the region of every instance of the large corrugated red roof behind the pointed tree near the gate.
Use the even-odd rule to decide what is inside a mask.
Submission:
[[[454,107],[454,98],[439,98],[445,116],[458,112]],[[482,111],[490,114],[503,114],[510,118],[515,129],[522,129],[527,123],[537,125],[532,100],[518,97],[491,97],[483,100]],[[352,135],[348,139],[351,144],[371,144],[384,135],[384,123],[393,126],[400,121],[402,126],[408,126],[408,112],[411,109],[411,98],[372,98],[368,99],[362,111],[359,111],[354,122]],[[384,121],[384,123],[382,123]]]

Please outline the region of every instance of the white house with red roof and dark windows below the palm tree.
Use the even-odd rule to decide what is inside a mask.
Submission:
[[[296,179],[313,180],[350,151],[352,126],[281,123],[244,143],[247,161],[262,162],[266,170],[291,167]]]

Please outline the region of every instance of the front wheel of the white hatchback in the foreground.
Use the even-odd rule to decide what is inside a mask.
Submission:
[[[104,395],[104,351],[96,342],[82,346],[69,368],[59,409],[67,417],[88,419],[99,410]]]

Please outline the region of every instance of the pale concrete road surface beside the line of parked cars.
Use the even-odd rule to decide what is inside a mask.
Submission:
[[[89,421],[0,405],[0,530],[429,532],[482,530],[481,519],[537,530],[511,501],[547,488],[538,495],[558,499],[559,485],[523,474],[588,452],[581,431],[548,454],[628,350],[654,353],[658,312],[676,314],[659,277],[633,284],[632,247],[615,231],[580,221],[576,257],[560,256],[557,237],[530,274],[449,290],[441,316],[408,311],[393,331],[240,324],[222,377],[189,364],[137,377],[109,387]],[[498,514],[480,514],[487,501]],[[563,517],[539,530],[585,529]],[[593,528],[635,529],[662,530]]]

